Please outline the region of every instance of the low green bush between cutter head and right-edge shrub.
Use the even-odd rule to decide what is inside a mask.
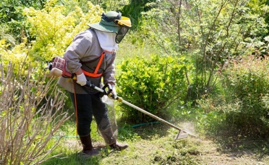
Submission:
[[[227,97],[227,96],[226,96]],[[201,135],[210,137],[232,136],[237,129],[231,123],[226,122],[227,111],[237,111],[239,104],[237,102],[226,102],[224,95],[203,96],[197,100],[199,109],[196,109],[197,130]]]

